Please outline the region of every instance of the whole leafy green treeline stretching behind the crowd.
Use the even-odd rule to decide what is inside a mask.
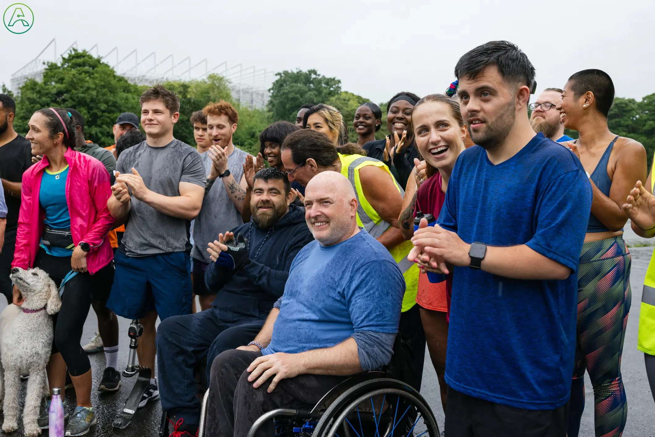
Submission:
[[[175,81],[162,84],[178,93],[179,121],[174,135],[194,145],[191,113],[202,109],[208,102],[225,99],[232,102],[239,113],[234,143],[250,153],[259,150],[259,132],[276,120],[295,121],[299,107],[306,103],[326,103],[341,111],[348,126],[350,140],[356,142],[352,120],[356,109],[369,100],[341,89],[341,81],[325,77],[318,71],[282,71],[271,87],[271,98],[266,109],[250,109],[235,102],[227,81],[219,75],[193,81]],[[114,143],[112,126],[122,112],[140,113],[139,97],[146,86],[138,86],[116,74],[112,67],[86,51],[73,49],[59,64],[48,63],[43,81],[28,80],[16,100],[14,127],[21,134],[28,131],[29,117],[37,109],[50,106],[73,107],[86,121],[86,139],[102,146]],[[3,89],[6,89],[3,86]],[[4,91],[3,91],[4,92]],[[389,96],[391,97],[391,96]],[[386,129],[386,103],[382,128],[376,138],[384,138]],[[615,98],[608,123],[617,135],[634,138],[648,152],[649,162],[655,151],[655,94],[645,96],[641,102],[631,98]],[[576,132],[567,134],[577,138]]]

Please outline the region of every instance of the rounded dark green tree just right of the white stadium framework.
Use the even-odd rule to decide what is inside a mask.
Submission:
[[[298,109],[306,103],[325,103],[341,91],[341,81],[318,71],[284,70],[269,89],[269,111],[273,120],[295,121]]]

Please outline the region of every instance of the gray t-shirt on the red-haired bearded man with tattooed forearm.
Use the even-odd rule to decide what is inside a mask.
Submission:
[[[239,183],[244,174],[243,164],[246,162],[247,152],[238,147],[234,147],[233,153],[227,158],[227,168],[230,174],[234,176],[234,181]],[[209,174],[212,166],[212,159],[209,153],[205,152],[200,155],[206,174]],[[241,219],[239,210],[236,209],[230,196],[227,194],[223,180],[217,178],[210,189],[210,192],[202,200],[202,209],[200,214],[193,221],[193,249],[191,256],[205,263],[212,260],[207,252],[207,244],[210,241],[218,239],[219,233],[225,233],[234,229],[244,222]]]

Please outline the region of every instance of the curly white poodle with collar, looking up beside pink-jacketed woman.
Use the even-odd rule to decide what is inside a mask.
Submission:
[[[62,306],[54,281],[41,269],[11,269],[10,278],[25,301],[8,305],[0,314],[0,400],[5,396],[4,432],[18,428],[20,375],[29,373],[23,410],[26,436],[38,436],[41,398],[48,392],[45,366],[52,352],[52,318]],[[4,392],[3,392],[4,383]]]

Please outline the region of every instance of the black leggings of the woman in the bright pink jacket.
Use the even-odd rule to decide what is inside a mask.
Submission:
[[[71,257],[48,255],[43,248],[40,248],[34,259],[34,267],[46,271],[59,287],[64,276],[71,271]],[[98,273],[111,268],[110,263]],[[54,326],[52,353],[60,352],[62,354],[71,376],[80,376],[91,370],[91,363],[82,349],[80,341],[84,322],[91,307],[91,290],[94,287],[94,279],[86,272],[78,273],[66,282],[62,296],[62,309],[58,314],[52,316]]]

